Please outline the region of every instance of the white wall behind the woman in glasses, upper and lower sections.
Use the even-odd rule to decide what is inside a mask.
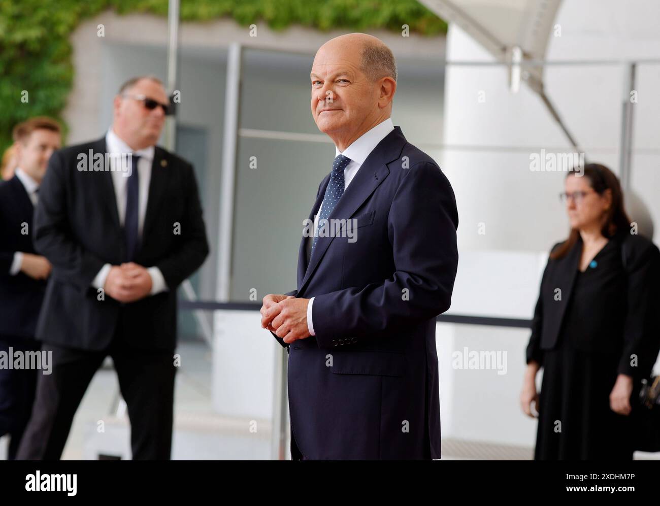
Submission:
[[[551,36],[546,57],[659,58],[659,19],[660,3],[651,0],[564,1],[557,19],[561,36]],[[447,36],[447,60],[493,61],[453,25]],[[546,91],[587,158],[603,162],[615,172],[622,100],[629,91],[624,89],[623,71],[622,65],[565,65],[545,71]],[[639,102],[634,106],[632,185],[656,224],[660,224],[659,87],[660,65],[642,65],[636,86]],[[541,148],[554,152],[571,149],[536,94],[526,86],[518,94],[509,92],[504,68],[449,66],[445,89],[444,142],[448,147],[439,156],[455,190],[461,222],[461,260],[451,311],[484,314],[494,294],[488,290],[489,282],[498,282],[479,270],[482,266],[475,260],[502,255],[500,265],[509,280],[503,286],[502,300],[492,309],[501,316],[530,318],[538,274],[533,275],[533,269],[525,268],[523,262],[520,269],[512,269],[510,262],[521,261],[517,253],[546,252],[566,236],[568,222],[556,197],[565,173],[531,172],[529,156]],[[478,100],[481,91],[485,102]],[[485,224],[486,234],[479,234],[479,223]],[[479,285],[486,289],[485,294]],[[518,290],[510,291],[515,285]],[[472,300],[468,300],[469,294],[473,294]],[[442,332],[440,325],[438,332]],[[438,340],[444,436],[533,445],[536,424],[517,405],[528,338],[527,330],[464,325],[447,331],[446,341]],[[453,369],[451,354],[464,346],[508,351],[508,373]]]

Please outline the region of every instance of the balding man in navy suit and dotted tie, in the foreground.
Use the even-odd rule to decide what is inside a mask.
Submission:
[[[393,126],[397,69],[383,42],[330,40],[310,77],[336,157],[300,243],[298,288],[261,308],[289,353],[292,458],[439,459],[436,315],[458,263],[451,185]]]

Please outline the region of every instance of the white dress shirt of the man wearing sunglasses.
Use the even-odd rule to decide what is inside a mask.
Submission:
[[[137,173],[139,176],[137,234],[141,237],[143,227],[145,226],[145,215],[147,214],[147,199],[149,199],[149,183],[151,181],[151,165],[154,161],[154,146],[133,151],[131,147],[122,141],[119,136],[114,133],[112,128],[110,128],[106,134],[106,150],[108,150],[110,164],[112,164],[113,168],[116,166],[115,164],[121,163],[121,156],[127,156],[129,153],[140,156],[140,159],[137,161]],[[117,167],[119,166],[117,165]],[[117,200],[119,224],[123,226],[126,216],[128,177],[126,173],[121,170],[112,170],[110,174],[112,174],[112,184],[115,189],[115,197]],[[94,288],[103,288],[106,285],[106,278],[108,278],[108,273],[111,268],[112,265],[106,263],[106,265],[98,271],[98,274],[96,274],[96,277],[92,280],[92,286],[94,286]],[[168,290],[165,278],[158,267],[149,267],[147,272],[149,272],[149,275],[151,276],[151,295]]]

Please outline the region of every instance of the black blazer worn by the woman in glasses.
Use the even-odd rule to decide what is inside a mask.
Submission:
[[[645,377],[660,348],[660,251],[649,239],[627,231],[610,240],[615,241],[619,252],[620,298],[607,308],[594,307],[595,317],[589,322],[593,332],[579,336],[576,346],[585,352],[620,353],[618,373]],[[552,251],[560,244],[555,244]],[[568,305],[589,303],[572,301],[581,251],[582,240],[578,239],[563,258],[548,259],[527,346],[528,364],[531,360],[543,364],[543,350],[556,346]],[[561,300],[556,300],[558,288]],[[616,323],[621,321],[622,325]],[[632,355],[638,357],[637,367],[630,365]]]

